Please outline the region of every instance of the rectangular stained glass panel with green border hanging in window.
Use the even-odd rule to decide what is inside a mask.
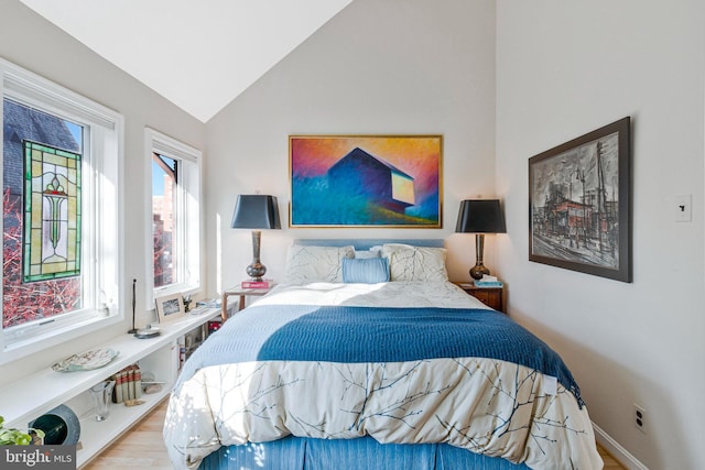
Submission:
[[[80,154],[24,142],[23,281],[80,274]]]

